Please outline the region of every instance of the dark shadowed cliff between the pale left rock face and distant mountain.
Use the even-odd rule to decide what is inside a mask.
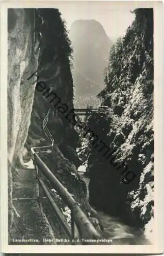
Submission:
[[[38,11],[42,17],[42,23],[38,24],[38,30],[41,32],[38,82],[43,81],[46,89],[56,93],[61,102],[65,103],[71,110],[73,109],[73,80],[70,71],[72,50],[65,24],[58,9],[39,9]],[[54,97],[53,94],[48,96],[47,93],[45,97],[43,92],[35,91],[26,147],[30,150],[31,146],[50,144],[43,132],[43,119],[50,108],[47,125],[54,142],[59,145],[66,158],[78,165],[78,157],[75,152],[77,134],[69,121],[62,115],[58,115],[57,108],[55,108],[55,103],[58,101],[54,100],[53,104],[49,103]]]

